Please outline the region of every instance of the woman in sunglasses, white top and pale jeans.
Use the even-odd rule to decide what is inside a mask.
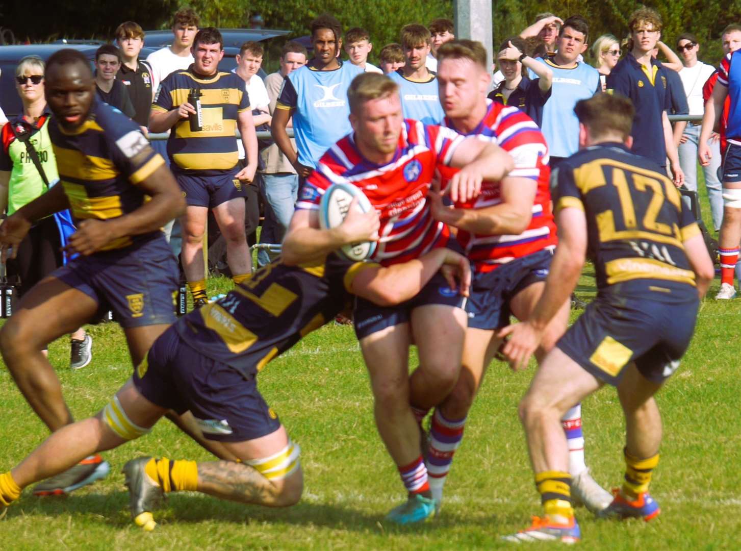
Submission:
[[[677,52],[682,59],[682,70],[679,78],[685,89],[690,115],[702,115],[705,113],[705,103],[702,101],[702,87],[714,73],[715,67],[701,62],[697,59],[700,52],[700,42],[692,33],[682,33],[677,38]],[[679,139],[679,165],[685,173],[685,187],[691,191],[697,191],[697,147],[700,139],[700,126],[702,121],[688,122],[685,131]],[[713,133],[710,141],[713,157],[708,166],[702,167],[705,174],[705,186],[708,188],[708,201],[710,202],[711,216],[715,231],[720,230],[720,222],[723,220],[723,196],[720,179],[718,179],[718,168],[720,167],[720,140],[717,133]],[[686,199],[685,199],[686,200]]]

